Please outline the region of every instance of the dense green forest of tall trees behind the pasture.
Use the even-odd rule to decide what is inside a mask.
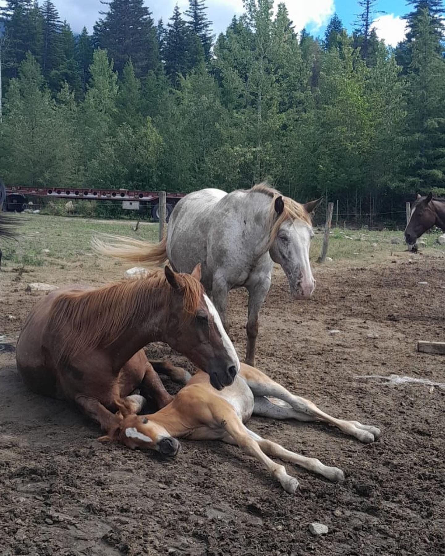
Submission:
[[[226,191],[269,180],[355,215],[445,194],[442,0],[408,0],[391,48],[357,2],[348,33],[296,29],[285,4],[245,0],[219,36],[205,0],[154,21],[104,4],[92,34],[51,2],[0,8],[0,176],[9,185]]]

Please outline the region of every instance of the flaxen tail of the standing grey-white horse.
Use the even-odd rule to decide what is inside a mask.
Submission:
[[[116,257],[129,262],[141,262],[149,265],[162,265],[167,261],[167,238],[157,244],[148,241],[133,240],[130,237],[105,235],[107,242],[95,237],[93,250],[101,255]]]

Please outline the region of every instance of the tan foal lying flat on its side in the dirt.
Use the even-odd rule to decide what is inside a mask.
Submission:
[[[179,368],[167,362],[157,362],[154,366],[159,373],[174,375],[176,379],[180,372]],[[183,372],[186,380],[188,373]],[[142,396],[140,401],[142,406]],[[209,375],[197,371],[173,401],[154,414],[136,415],[134,405],[131,409],[119,402],[116,405],[120,407],[123,418],[117,428],[108,431],[108,435],[102,436],[100,440],[121,440],[132,449],[150,448],[171,456],[175,456],[180,447],[176,438],[222,440],[238,444],[247,454],[258,459],[290,494],[298,487],[298,480],[288,475],[283,465],[276,464],[269,456],[295,463],[332,481],[342,481],[343,471],[261,438],[243,424],[251,415],[325,421],[362,442],[373,442],[380,435],[380,430],[375,426],[327,415],[311,401],[291,394],[258,369],[244,363],[241,363],[234,383],[220,391],[212,388]]]

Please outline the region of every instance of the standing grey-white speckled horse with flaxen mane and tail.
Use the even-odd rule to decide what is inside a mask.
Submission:
[[[250,190],[226,193],[202,189],[182,198],[175,206],[167,236],[153,245],[125,237],[112,243],[95,240],[96,250],[133,262],[162,264],[191,272],[201,263],[201,282],[212,298],[224,327],[228,292],[249,291],[246,363],[255,364],[258,315],[268,294],[274,262],[288,277],[295,299],[308,299],[315,290],[309,264],[314,233],[310,215],[322,200],[305,205],[260,183]]]

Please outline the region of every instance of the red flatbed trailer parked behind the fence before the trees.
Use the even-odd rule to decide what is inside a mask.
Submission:
[[[167,193],[167,218],[173,207],[185,197],[186,193]],[[28,203],[27,197],[65,198],[86,201],[130,201],[125,208],[134,209],[149,206],[151,216],[159,220],[159,191],[133,191],[128,189],[86,189],[82,187],[26,187],[6,186],[5,208],[8,211],[22,212]],[[134,203],[134,205],[133,205]]]

